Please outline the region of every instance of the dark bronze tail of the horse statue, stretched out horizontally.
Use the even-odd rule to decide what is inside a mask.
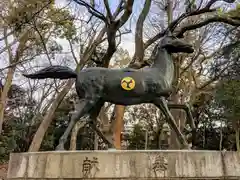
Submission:
[[[43,68],[40,71],[37,71],[33,74],[23,74],[23,76],[30,79],[70,79],[76,78],[77,73],[73,71],[69,67],[65,66],[49,66],[47,68]]]

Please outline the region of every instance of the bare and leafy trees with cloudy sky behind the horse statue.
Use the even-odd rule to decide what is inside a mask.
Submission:
[[[192,107],[193,148],[240,151],[240,1],[2,0],[0,8],[1,162],[11,152],[54,150],[76,104],[73,80],[30,80],[23,73],[53,64],[76,71],[144,68],[166,28],[195,49],[174,55],[169,99]],[[113,141],[123,111],[123,149],[179,149],[175,133],[151,104],[106,103],[97,124],[106,139]],[[184,112],[172,113],[191,144]],[[80,122],[66,148],[107,146]]]

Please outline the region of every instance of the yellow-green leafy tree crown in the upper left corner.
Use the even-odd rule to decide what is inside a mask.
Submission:
[[[27,48],[24,49],[29,56],[45,52],[44,44],[52,54],[61,51],[62,47],[56,43],[56,38],[77,41],[73,16],[69,10],[54,5],[54,1],[44,0],[9,3],[6,10],[8,13],[4,14],[3,18],[10,31],[13,30],[16,40],[27,40],[24,44]]]

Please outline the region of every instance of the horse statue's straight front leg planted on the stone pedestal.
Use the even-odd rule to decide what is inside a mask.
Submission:
[[[179,128],[177,127],[176,121],[174,120],[169,108],[168,104],[166,102],[166,99],[164,97],[160,97],[155,99],[154,104],[163,112],[165,115],[167,122],[171,126],[171,128],[176,133],[176,138],[178,139],[179,143],[181,144],[182,148],[189,149],[188,143],[184,137],[184,135],[181,133]]]

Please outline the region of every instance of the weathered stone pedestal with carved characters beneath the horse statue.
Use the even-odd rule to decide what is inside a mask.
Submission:
[[[8,179],[240,179],[240,153],[54,151],[11,154]]]

